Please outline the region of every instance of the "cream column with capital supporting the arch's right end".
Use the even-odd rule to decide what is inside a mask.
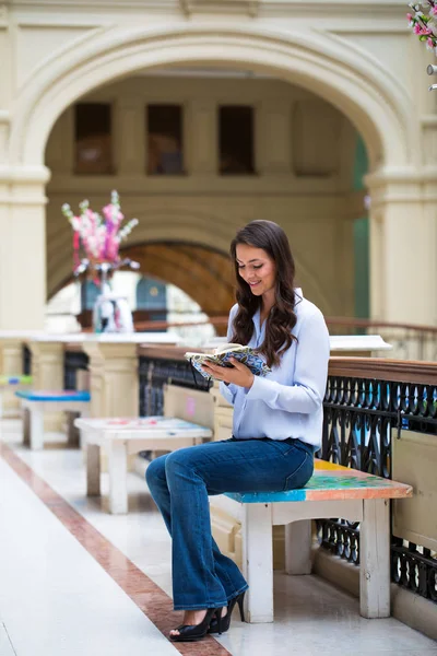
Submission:
[[[424,209],[424,179],[405,169],[367,181],[373,318],[434,325],[437,297],[426,290],[436,280],[436,212]]]

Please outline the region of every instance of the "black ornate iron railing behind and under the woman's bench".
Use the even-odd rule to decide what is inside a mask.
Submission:
[[[392,438],[401,437],[401,430],[437,440],[436,383],[329,376],[320,458],[390,478]],[[359,563],[359,524],[323,519],[318,529],[323,548]],[[429,549],[392,536],[391,577],[437,602],[437,554]]]

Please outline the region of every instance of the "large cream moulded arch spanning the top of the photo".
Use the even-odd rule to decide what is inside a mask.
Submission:
[[[408,92],[371,55],[341,37],[314,31],[271,31],[197,23],[101,27],[45,61],[21,92],[11,130],[12,165],[40,166],[50,130],[74,101],[146,68],[241,67],[299,84],[335,105],[363,136],[370,166],[418,157],[408,117]]]

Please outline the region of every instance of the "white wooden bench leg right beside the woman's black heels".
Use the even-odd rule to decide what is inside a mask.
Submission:
[[[273,622],[273,536],[270,504],[243,505],[243,569],[248,622]]]

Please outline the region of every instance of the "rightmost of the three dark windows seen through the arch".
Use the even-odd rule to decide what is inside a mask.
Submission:
[[[218,110],[220,173],[251,175],[253,162],[253,108],[227,105]]]

